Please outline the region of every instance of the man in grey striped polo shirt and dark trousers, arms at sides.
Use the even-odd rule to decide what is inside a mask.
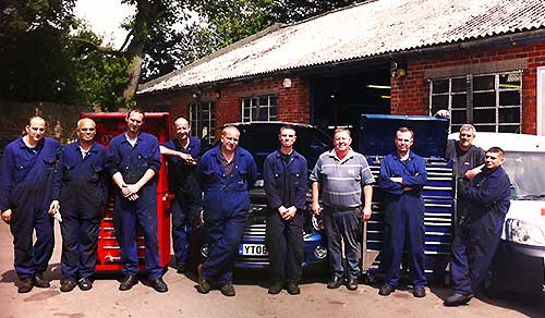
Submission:
[[[371,218],[371,199],[373,196],[371,174],[367,159],[350,148],[352,138],[347,129],[335,131],[335,149],[322,154],[314,167],[312,184],[312,209],[314,215],[320,213],[319,192],[324,203],[324,221],[327,232],[327,249],[332,271],[328,289],[337,289],[343,283],[344,268],[342,264],[341,240],[348,265],[347,288],[358,289],[360,273],[361,221]],[[364,203],[362,207],[362,193]]]

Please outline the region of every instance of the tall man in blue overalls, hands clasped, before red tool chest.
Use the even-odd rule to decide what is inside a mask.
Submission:
[[[159,266],[157,238],[157,173],[161,167],[159,142],[141,132],[144,112],[131,110],[125,118],[126,132],[113,137],[108,149],[108,167],[116,183],[113,224],[121,247],[125,278],[119,285],[128,291],[138,282],[136,225],[144,232],[146,269],[149,284],[159,293],[168,291]]]

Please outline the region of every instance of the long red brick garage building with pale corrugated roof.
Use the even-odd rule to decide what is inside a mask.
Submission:
[[[268,29],[141,85],[140,107],[229,122],[356,129],[451,112],[451,130],[545,135],[542,0],[376,0]]]

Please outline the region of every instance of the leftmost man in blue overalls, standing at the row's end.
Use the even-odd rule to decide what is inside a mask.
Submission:
[[[44,279],[55,246],[53,219],[48,210],[61,146],[44,136],[46,127],[43,118],[31,118],[26,134],[10,143],[2,157],[0,211],[13,235],[20,293],[50,285]],[[37,240],[33,246],[34,231]]]

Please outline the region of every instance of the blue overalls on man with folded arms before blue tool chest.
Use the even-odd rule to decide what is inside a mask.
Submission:
[[[401,176],[403,184],[392,182]],[[427,181],[426,166],[422,157],[410,152],[401,161],[397,152],[384,157],[380,163],[378,186],[383,189],[385,206],[385,238],[382,268],[385,283],[395,288],[399,281],[399,267],[407,246],[408,264],[413,288],[426,285],[424,276],[424,199],[422,188]],[[411,191],[403,191],[411,187]]]

